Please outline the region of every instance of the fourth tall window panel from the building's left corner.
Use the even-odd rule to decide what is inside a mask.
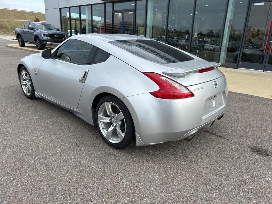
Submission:
[[[95,4],[93,9],[93,32],[104,33],[104,4]]]

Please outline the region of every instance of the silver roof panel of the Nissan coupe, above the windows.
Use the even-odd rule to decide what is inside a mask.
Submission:
[[[91,33],[91,34],[83,34],[83,35],[80,35],[80,36],[93,37],[93,38],[96,38],[96,39],[99,39],[99,40],[105,41],[105,42],[114,41],[114,40],[137,40],[137,39],[151,40],[150,38],[144,38],[144,37],[141,37],[141,36],[127,35],[127,34],[97,34],[97,33]],[[75,36],[73,36],[73,37],[75,38]]]

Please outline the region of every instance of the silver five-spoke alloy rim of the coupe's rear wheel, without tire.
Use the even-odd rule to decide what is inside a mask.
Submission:
[[[112,102],[103,103],[98,110],[98,125],[103,136],[111,143],[119,143],[126,134],[126,122],[121,110]]]

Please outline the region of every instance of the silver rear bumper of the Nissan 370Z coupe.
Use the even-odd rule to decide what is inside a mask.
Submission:
[[[176,141],[209,128],[226,111],[227,84],[224,76],[213,81],[188,86],[194,97],[167,100],[150,93],[121,98],[128,107],[134,121],[136,145],[152,145]],[[203,86],[203,89],[199,87]],[[222,97],[222,103],[214,108],[207,106],[211,96]],[[219,96],[220,95],[220,96]]]

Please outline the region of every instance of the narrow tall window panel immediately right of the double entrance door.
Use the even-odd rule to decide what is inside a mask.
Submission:
[[[146,0],[138,0],[136,2],[136,30],[135,35],[144,36]]]

